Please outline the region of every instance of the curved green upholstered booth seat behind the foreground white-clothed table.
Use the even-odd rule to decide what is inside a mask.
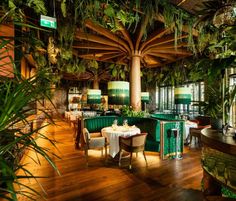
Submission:
[[[176,138],[168,136],[172,128],[179,129],[179,141],[177,144],[178,153],[183,152],[183,121],[162,121],[157,118],[123,117],[123,116],[99,116],[85,118],[82,121],[82,128],[87,128],[90,133],[100,132],[102,128],[111,126],[117,119],[118,125],[122,125],[126,119],[130,126],[136,125],[141,132],[147,132],[145,151],[160,152],[162,159],[169,156],[174,157],[176,151]]]

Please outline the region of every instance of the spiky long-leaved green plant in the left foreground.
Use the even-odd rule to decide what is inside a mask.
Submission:
[[[19,74],[15,73],[14,79],[0,77],[0,174],[1,174],[1,191],[0,197],[8,200],[17,200],[16,195],[22,194],[29,196],[37,194],[30,186],[25,186],[22,179],[37,178],[33,176],[25,164],[20,163],[20,159],[27,151],[34,151],[38,156],[45,158],[55,169],[53,161],[49,154],[50,151],[40,147],[37,139],[45,139],[54,144],[54,142],[40,133],[40,128],[34,128],[23,132],[21,127],[24,125],[30,127],[27,120],[34,114],[35,108],[29,107],[42,98],[48,98],[45,94],[45,87],[38,85],[41,75],[36,75],[30,79],[21,79]],[[46,116],[48,114],[45,113]],[[41,127],[42,128],[42,127]],[[35,133],[38,135],[35,137]],[[33,159],[32,159],[33,160]],[[39,160],[39,159],[37,159]],[[33,160],[38,163],[39,161]],[[16,172],[22,171],[22,174]],[[25,188],[29,191],[18,191],[15,186]],[[9,194],[5,194],[5,193]]]

